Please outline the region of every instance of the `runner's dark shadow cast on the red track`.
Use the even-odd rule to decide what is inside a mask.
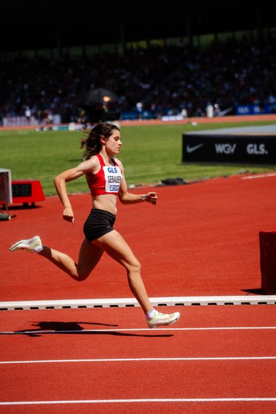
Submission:
[[[92,329],[84,329],[80,324],[86,325],[97,325],[97,326],[118,326],[110,324],[100,324],[92,322],[37,322],[37,324],[32,324],[32,326],[37,326],[35,329],[24,329],[21,331],[14,331],[10,333],[27,335],[29,337],[40,337],[42,335],[112,335],[112,336],[122,336],[122,337],[172,337],[171,334],[165,335],[141,335],[138,333],[122,333],[119,331],[93,331]],[[0,333],[0,335],[5,335],[5,333]],[[6,333],[8,335],[8,333]]]

